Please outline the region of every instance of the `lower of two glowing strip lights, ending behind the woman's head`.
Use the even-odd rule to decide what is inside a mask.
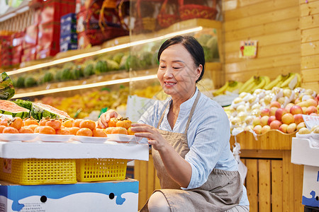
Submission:
[[[149,76],[138,76],[138,77],[133,77],[133,78],[122,78],[118,80],[113,80],[113,81],[103,81],[100,83],[90,83],[86,85],[81,85],[81,86],[69,86],[69,87],[64,87],[64,88],[53,88],[49,90],[39,90],[35,92],[29,92],[29,93],[19,93],[13,96],[14,98],[23,98],[23,97],[29,97],[33,95],[45,95],[49,93],[58,93],[62,91],[69,91],[69,90],[79,90],[79,89],[84,89],[84,88],[95,88],[99,86],[110,86],[110,85],[115,85],[118,83],[129,83],[133,81],[145,81],[148,79],[153,79],[157,78],[157,74],[154,75],[149,75]]]

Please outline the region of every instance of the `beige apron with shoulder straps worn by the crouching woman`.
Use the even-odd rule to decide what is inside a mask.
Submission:
[[[163,112],[157,125],[157,129],[162,136],[164,136],[182,158],[185,158],[186,153],[189,152],[187,130],[189,129],[189,123],[191,122],[191,117],[194,114],[200,95],[201,93],[198,91],[194,105],[189,113],[184,134],[158,129],[165,112]],[[207,181],[201,187],[182,190],[179,184],[169,177],[158,151],[154,148],[152,148],[152,157],[162,188],[155,192],[159,191],[164,194],[171,211],[227,211],[239,204],[242,197],[242,182],[238,171],[226,171],[214,168],[208,176]],[[148,211],[147,203],[141,211]]]

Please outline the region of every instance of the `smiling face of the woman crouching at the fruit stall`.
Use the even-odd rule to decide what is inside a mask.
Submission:
[[[196,67],[191,54],[181,45],[164,49],[159,58],[157,78],[165,93],[172,98],[189,99],[195,92],[202,66]]]

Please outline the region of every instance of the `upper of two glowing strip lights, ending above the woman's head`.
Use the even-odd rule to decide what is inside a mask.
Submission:
[[[63,64],[65,62],[67,62],[67,61],[73,61],[75,59],[82,59],[82,58],[85,58],[85,57],[91,57],[91,56],[94,56],[94,55],[97,55],[97,54],[103,54],[103,53],[111,52],[111,51],[118,50],[118,49],[124,49],[124,48],[128,48],[128,47],[142,45],[142,44],[145,44],[147,42],[155,42],[155,41],[158,41],[158,40],[164,40],[164,39],[167,39],[169,37],[174,37],[175,35],[183,35],[183,34],[187,34],[187,33],[194,33],[194,32],[198,32],[198,31],[201,31],[201,30],[203,30],[203,27],[201,27],[201,26],[200,27],[196,27],[196,28],[191,28],[189,30],[181,30],[181,31],[178,31],[178,32],[175,32],[175,33],[169,33],[169,34],[162,35],[162,36],[159,36],[159,37],[154,37],[154,38],[150,38],[150,39],[129,42],[129,43],[126,43],[126,44],[123,44],[123,45],[117,45],[117,46],[114,46],[114,47],[107,47],[107,48],[104,48],[104,49],[100,49],[100,50],[97,50],[95,52],[77,54],[77,55],[74,55],[74,56],[71,56],[71,57],[65,57],[65,58],[62,58],[62,59],[56,59],[54,61],[49,61],[49,62],[45,62],[45,63],[42,63],[42,64],[28,66],[28,67],[24,67],[24,68],[21,68],[21,69],[16,69],[15,71],[8,71],[7,74],[9,76],[12,76],[12,75],[17,74],[17,73],[23,73],[23,72],[32,71],[32,70],[35,70],[35,69],[42,69],[42,68],[45,68],[47,66]]]

